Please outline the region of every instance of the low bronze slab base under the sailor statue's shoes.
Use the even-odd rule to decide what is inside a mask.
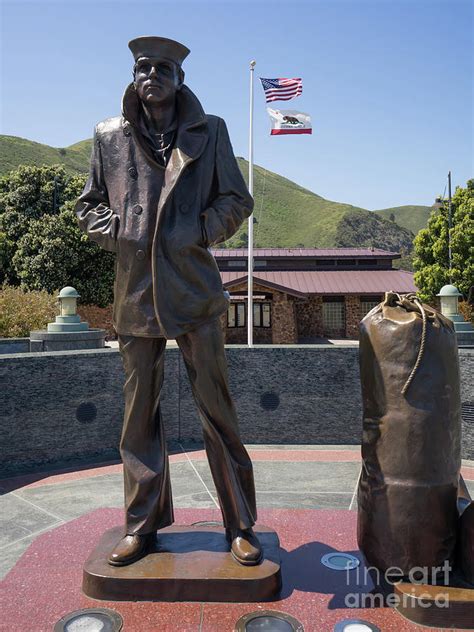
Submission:
[[[278,596],[280,543],[273,529],[255,527],[264,553],[257,566],[243,566],[229,552],[223,527],[172,526],[158,532],[154,550],[128,566],[107,558],[123,536],[109,529],[83,569],[82,590],[107,601],[257,602]]]

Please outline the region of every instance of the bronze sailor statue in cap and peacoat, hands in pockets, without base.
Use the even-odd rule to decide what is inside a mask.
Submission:
[[[253,469],[227,380],[220,316],[228,298],[209,250],[237,231],[253,200],[225,122],[205,114],[184,84],[189,50],[162,37],[139,37],[129,47],[135,65],[122,116],[96,126],[90,175],[76,207],[89,237],[117,253],[126,532],[109,563],[140,559],[157,530],[173,522],[160,394],[166,341],[176,339],[232,555],[254,565],[262,549],[252,530]]]

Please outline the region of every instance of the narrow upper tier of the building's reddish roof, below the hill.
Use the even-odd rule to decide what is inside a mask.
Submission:
[[[248,257],[247,248],[215,248],[214,257]],[[255,248],[254,257],[400,257],[398,252],[379,248]]]

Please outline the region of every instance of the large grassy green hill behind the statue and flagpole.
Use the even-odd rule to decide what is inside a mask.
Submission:
[[[88,170],[91,140],[70,147],[54,148],[15,136],[0,136],[0,174],[20,164],[63,164],[71,173]],[[238,158],[247,179],[248,163]],[[254,172],[254,227],[256,247],[370,247],[384,248],[409,255],[413,234],[409,226],[390,221],[390,214],[404,218],[404,209],[428,207],[400,207],[376,213],[350,204],[326,200],[263,167]],[[388,217],[385,215],[388,214]],[[402,221],[402,220],[400,220]],[[247,244],[247,226],[225,246]],[[407,264],[409,265],[409,263]]]

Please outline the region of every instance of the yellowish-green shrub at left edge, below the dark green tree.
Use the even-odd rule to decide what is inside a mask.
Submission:
[[[47,292],[23,292],[8,285],[0,288],[0,336],[29,336],[32,330],[44,329],[57,312],[57,299]]]

